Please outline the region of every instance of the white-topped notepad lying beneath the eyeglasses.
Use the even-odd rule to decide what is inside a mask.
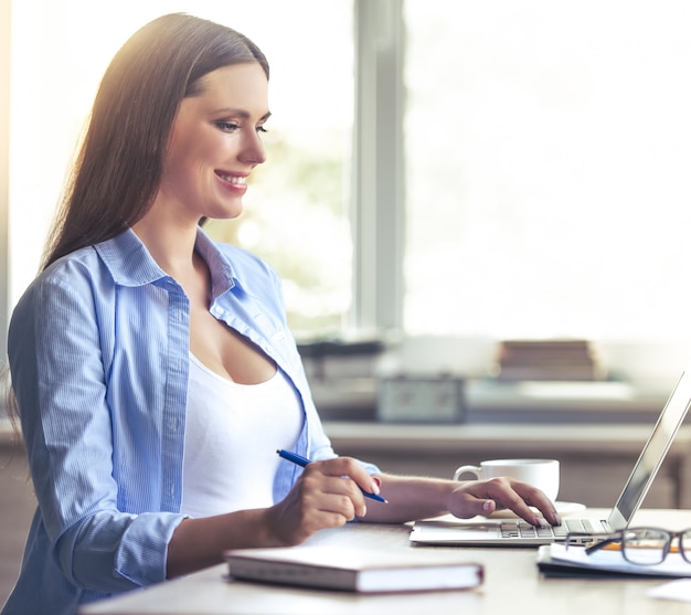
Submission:
[[[678,552],[669,553],[660,564],[640,565],[627,562],[621,551],[599,550],[592,554],[585,547],[566,547],[562,543],[544,544],[538,550],[538,569],[545,576],[638,576],[670,577],[691,576],[691,564]]]

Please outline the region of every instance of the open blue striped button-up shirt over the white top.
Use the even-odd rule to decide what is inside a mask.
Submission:
[[[301,400],[296,450],[334,456],[275,272],[201,230],[196,251],[211,271],[211,314],[276,361]],[[3,615],[72,614],[166,579],[183,519],[189,321],[182,287],[132,231],[57,261],[20,299],[8,347],[39,509]],[[275,501],[299,471],[280,465]]]

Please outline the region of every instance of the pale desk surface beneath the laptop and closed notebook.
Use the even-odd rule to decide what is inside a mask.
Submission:
[[[600,516],[603,512],[592,509],[588,515]],[[642,510],[635,521],[637,524],[682,529],[691,527],[691,511]],[[311,542],[358,544],[365,549],[412,549],[407,537],[408,528],[405,526],[354,523],[338,530],[320,532]],[[225,565],[217,565],[185,579],[89,605],[79,613],[82,615],[691,614],[691,603],[662,602],[646,595],[649,589],[665,581],[544,579],[535,564],[535,549],[486,548],[465,549],[465,552],[469,561],[478,561],[485,565],[486,582],[478,590],[359,596],[339,592],[227,582],[223,576]]]

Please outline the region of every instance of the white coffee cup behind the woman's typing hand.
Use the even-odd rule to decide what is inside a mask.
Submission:
[[[559,494],[559,462],[556,459],[490,459],[479,466],[460,466],[454,473],[454,480],[467,474],[476,480],[510,476],[529,483],[542,490],[552,501]]]

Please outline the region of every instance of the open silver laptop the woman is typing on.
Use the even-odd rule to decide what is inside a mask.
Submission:
[[[665,404],[621,495],[606,519],[566,517],[560,527],[534,528],[522,519],[482,519],[463,521],[416,521],[410,541],[438,545],[531,545],[564,541],[570,531],[588,533],[615,532],[628,527],[650,489],[669,447],[691,406],[691,365],[681,374]],[[583,539],[587,543],[592,540]]]

